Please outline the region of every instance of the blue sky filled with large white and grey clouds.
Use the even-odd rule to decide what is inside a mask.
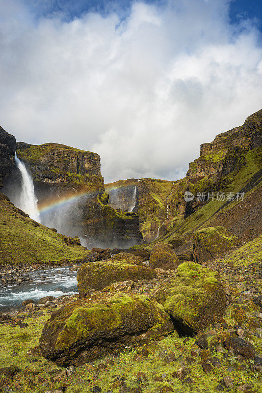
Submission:
[[[262,108],[261,1],[0,0],[0,53],[0,125],[105,182],[182,178]]]

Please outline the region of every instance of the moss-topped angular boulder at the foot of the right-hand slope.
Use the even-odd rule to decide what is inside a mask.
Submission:
[[[238,244],[238,239],[223,226],[210,226],[195,233],[193,257],[197,263],[206,262],[230,250]]]

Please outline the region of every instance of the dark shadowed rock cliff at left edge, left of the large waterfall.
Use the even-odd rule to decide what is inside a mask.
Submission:
[[[15,137],[0,127],[0,189],[3,178],[10,174],[15,166],[15,145]]]

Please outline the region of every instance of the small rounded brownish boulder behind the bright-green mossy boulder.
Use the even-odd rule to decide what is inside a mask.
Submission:
[[[165,243],[157,243],[149,258],[149,266],[153,269],[176,270],[180,263],[174,250]]]

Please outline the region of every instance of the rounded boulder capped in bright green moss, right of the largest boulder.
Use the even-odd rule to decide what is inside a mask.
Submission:
[[[183,262],[174,279],[158,289],[156,298],[185,334],[201,332],[218,321],[226,304],[218,274],[194,262]]]

